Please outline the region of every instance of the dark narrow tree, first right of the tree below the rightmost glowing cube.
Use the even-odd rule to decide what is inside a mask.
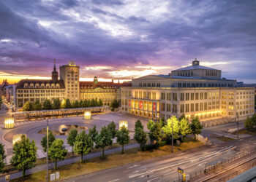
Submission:
[[[143,124],[141,124],[140,120],[137,120],[135,123],[135,141],[140,144],[140,150],[142,146],[146,144],[148,138],[147,133],[143,130]]]

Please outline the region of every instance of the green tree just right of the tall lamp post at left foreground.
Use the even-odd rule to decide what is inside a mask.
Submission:
[[[55,160],[55,169],[57,168],[58,159],[63,160],[67,156],[67,149],[63,144],[64,141],[57,138],[49,148],[49,157],[51,160]]]

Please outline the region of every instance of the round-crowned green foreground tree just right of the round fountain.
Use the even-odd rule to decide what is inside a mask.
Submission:
[[[87,155],[91,152],[94,146],[91,137],[86,134],[83,130],[80,134],[75,138],[75,152],[81,155],[81,162],[83,163],[83,155]]]

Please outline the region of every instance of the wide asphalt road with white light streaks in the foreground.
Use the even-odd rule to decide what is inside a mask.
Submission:
[[[252,136],[219,145],[201,146],[178,154],[80,175],[66,181],[178,181],[177,167],[184,169],[184,173],[187,174],[203,173],[206,164],[214,165],[255,149],[255,139],[256,136]]]

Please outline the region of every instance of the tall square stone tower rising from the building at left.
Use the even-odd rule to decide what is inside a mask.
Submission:
[[[68,65],[61,66],[60,79],[65,84],[65,98],[70,101],[79,100],[79,66],[75,61],[69,61]]]

